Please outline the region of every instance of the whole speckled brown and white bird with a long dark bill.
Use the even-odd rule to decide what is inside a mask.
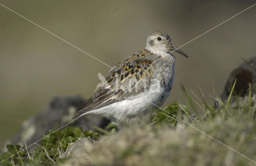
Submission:
[[[188,58],[172,44],[168,33],[152,32],[144,49],[110,69],[103,85],[72,119],[100,115],[112,121],[132,121],[156,105],[164,104],[174,80],[173,51]]]

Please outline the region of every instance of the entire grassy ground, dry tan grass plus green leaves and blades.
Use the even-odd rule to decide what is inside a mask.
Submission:
[[[232,91],[234,86],[232,88]],[[132,165],[254,165],[256,161],[256,105],[249,96],[231,103],[231,95],[226,103],[214,98],[204,100],[183,87],[188,106],[174,101],[163,109],[155,109],[151,123],[133,123],[118,127],[110,123],[105,129],[82,131],[68,126],[43,139],[34,152],[22,150],[19,145],[8,145],[8,152],[0,156],[2,165],[64,165],[64,166],[132,166]],[[232,94],[232,91],[230,94]],[[241,102],[242,101],[242,102]],[[246,104],[244,104],[246,103]],[[199,107],[199,110],[196,108]],[[190,111],[194,111],[192,115]],[[143,119],[141,120],[143,121]],[[210,135],[221,143],[194,129]],[[52,133],[54,130],[50,131]],[[60,159],[77,139],[87,137],[84,146],[72,157]],[[97,141],[95,143],[94,141]],[[237,152],[243,154],[246,158]]]

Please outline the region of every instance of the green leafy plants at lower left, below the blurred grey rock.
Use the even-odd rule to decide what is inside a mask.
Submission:
[[[50,130],[47,137],[42,139],[39,144],[36,144],[36,150],[32,154],[27,150],[20,147],[20,145],[7,145],[7,152],[4,152],[0,156],[0,161],[5,160],[1,164],[4,166],[26,165],[26,164],[40,164],[40,165],[52,165],[60,156],[60,153],[64,153],[66,148],[72,144],[72,142],[80,138],[89,138],[98,140],[99,133],[96,131],[82,131],[82,128],[68,126],[62,130]],[[12,156],[12,157],[11,157]]]

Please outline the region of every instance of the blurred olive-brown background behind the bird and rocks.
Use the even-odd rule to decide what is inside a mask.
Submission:
[[[143,49],[155,30],[181,46],[250,7],[254,0],[86,1],[0,0],[110,66]],[[206,97],[220,95],[229,73],[255,56],[256,6],[181,48],[170,97],[180,83]],[[0,6],[0,145],[22,121],[45,109],[54,95],[89,98],[110,68]]]

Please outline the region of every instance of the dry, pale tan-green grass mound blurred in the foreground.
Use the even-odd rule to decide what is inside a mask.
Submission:
[[[195,126],[256,161],[254,119],[216,117]],[[230,166],[255,163],[196,129],[129,126],[97,143],[86,141],[63,166]]]

